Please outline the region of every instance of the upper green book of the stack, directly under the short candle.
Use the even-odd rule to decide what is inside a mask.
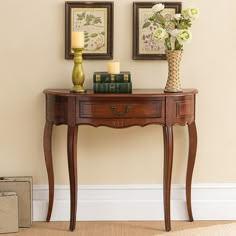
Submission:
[[[119,74],[109,74],[107,72],[94,72],[94,83],[128,83],[131,82],[129,71],[121,71]]]

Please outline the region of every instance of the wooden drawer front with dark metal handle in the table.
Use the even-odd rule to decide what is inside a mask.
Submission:
[[[164,100],[80,101],[80,118],[161,118]]]

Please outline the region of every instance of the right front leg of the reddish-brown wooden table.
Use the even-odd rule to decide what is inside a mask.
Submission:
[[[170,223],[170,192],[171,192],[171,174],[173,163],[173,127],[163,126],[164,137],[164,173],[163,173],[163,197],[164,197],[164,215],[166,231],[171,230]]]

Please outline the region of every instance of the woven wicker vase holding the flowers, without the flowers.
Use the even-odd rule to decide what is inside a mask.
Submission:
[[[182,58],[183,50],[167,50],[166,57],[168,61],[168,80],[166,82],[166,93],[183,92],[180,85],[179,65]]]

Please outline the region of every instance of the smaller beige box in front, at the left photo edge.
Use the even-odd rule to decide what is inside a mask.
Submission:
[[[0,192],[0,233],[18,232],[18,199],[14,192]]]

